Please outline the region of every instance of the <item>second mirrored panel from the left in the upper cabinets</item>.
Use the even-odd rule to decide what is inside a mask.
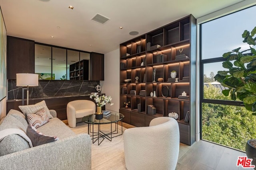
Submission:
[[[66,80],[66,49],[52,47],[52,80]]]

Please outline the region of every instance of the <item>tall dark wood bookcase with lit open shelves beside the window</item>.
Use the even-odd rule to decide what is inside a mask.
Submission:
[[[171,78],[172,71],[178,79]],[[196,19],[192,15],[120,44],[124,122],[142,127],[155,117],[178,113],[180,142],[192,145],[196,136],[195,74]],[[183,92],[189,98],[180,98]],[[185,121],[187,114],[189,121]]]

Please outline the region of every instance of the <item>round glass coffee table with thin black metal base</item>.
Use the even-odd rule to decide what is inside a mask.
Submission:
[[[84,116],[82,121],[88,124],[88,134],[92,137],[92,143],[98,141],[98,145],[104,141],[104,139],[108,139],[112,141],[112,138],[118,137],[123,134],[123,119],[124,115],[118,112],[111,111],[111,115],[108,117],[103,117],[103,119],[95,119],[95,113],[92,115]],[[121,121],[121,133],[118,133],[118,121]],[[110,131],[108,133],[100,130],[100,125],[110,124]],[[112,124],[115,125],[114,129],[112,129]],[[98,129],[95,131],[94,126],[98,126]],[[100,138],[102,140],[100,141]]]

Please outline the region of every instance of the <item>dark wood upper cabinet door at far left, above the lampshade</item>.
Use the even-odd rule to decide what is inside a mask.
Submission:
[[[7,79],[16,73],[35,73],[35,42],[7,36]]]

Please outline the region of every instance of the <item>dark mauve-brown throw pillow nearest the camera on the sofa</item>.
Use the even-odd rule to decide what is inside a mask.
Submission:
[[[27,136],[31,140],[33,147],[59,140],[58,137],[56,136],[43,135],[41,132],[36,130],[36,128],[31,126],[30,124],[28,124]]]

